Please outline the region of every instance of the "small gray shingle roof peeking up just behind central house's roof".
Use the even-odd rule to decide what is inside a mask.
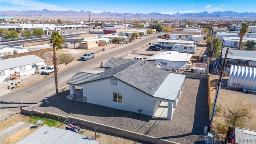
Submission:
[[[110,58],[104,65],[103,68],[114,68],[121,64],[126,64],[128,62],[133,62],[135,60],[124,59],[124,58]]]

